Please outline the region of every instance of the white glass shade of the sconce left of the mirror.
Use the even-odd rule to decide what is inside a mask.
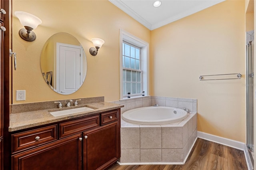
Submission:
[[[32,29],[36,29],[36,27],[39,24],[42,24],[42,20],[40,20],[40,18],[32,14],[29,14],[27,12],[15,11],[14,14],[20,20],[20,23],[22,24],[22,26],[28,26]]]

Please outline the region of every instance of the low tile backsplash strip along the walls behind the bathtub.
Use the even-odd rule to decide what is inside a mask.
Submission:
[[[154,106],[155,104],[158,104],[159,106],[175,107],[180,109],[183,109],[182,107],[186,107],[186,109],[189,109],[190,112],[197,112],[197,99],[144,96],[130,99],[122,99],[119,101],[113,101],[112,103],[124,105],[124,107],[121,108],[121,113],[139,107]]]

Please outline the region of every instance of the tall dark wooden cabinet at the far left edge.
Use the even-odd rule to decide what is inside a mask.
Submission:
[[[9,49],[11,49],[11,0],[0,0],[0,24],[6,29],[5,32],[0,30],[0,170],[10,169],[10,134],[9,117],[10,117],[10,61]],[[6,14],[4,14],[3,10]]]

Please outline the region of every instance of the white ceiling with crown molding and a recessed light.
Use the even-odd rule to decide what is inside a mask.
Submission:
[[[154,30],[224,0],[160,0],[161,6],[153,6],[155,0],[109,0],[149,30]]]

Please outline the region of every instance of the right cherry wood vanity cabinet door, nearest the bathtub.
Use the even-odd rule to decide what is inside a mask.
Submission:
[[[83,133],[84,170],[102,170],[118,160],[118,121]]]

